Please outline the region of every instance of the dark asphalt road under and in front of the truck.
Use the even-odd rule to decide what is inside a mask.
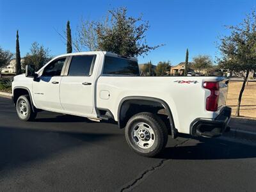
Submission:
[[[169,138],[134,154],[117,125],[57,113],[21,122],[0,97],[0,191],[256,191],[256,147]]]

